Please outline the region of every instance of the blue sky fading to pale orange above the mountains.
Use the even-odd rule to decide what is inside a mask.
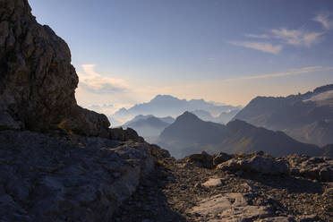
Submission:
[[[29,0],[67,42],[82,107],[158,94],[245,106],[333,83],[333,1]]]

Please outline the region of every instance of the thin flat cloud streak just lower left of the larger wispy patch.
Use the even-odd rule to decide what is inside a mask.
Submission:
[[[252,48],[256,50],[260,50],[265,53],[271,53],[277,55],[281,50],[281,45],[272,45],[270,43],[266,42],[249,42],[249,41],[232,41],[229,42],[232,45],[235,45],[237,47],[247,47]]]

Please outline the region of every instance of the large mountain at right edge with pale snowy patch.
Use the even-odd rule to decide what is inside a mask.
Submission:
[[[257,97],[234,119],[279,130],[303,142],[333,142],[333,84],[286,98]]]

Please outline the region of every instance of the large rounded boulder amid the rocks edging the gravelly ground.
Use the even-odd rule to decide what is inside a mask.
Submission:
[[[247,155],[242,158],[232,158],[228,161],[219,164],[219,170],[236,172],[239,170],[247,172],[255,172],[267,175],[287,174],[288,168],[285,161],[276,160],[270,156]]]

